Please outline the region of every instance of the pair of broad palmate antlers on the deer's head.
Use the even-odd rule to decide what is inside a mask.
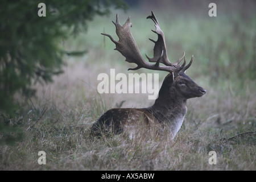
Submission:
[[[156,62],[155,64],[150,64],[146,62],[141,52],[139,52],[139,48],[133,38],[133,35],[131,34],[131,22],[130,22],[130,16],[126,20],[125,24],[121,26],[119,23],[118,14],[116,15],[116,21],[113,22],[115,25],[115,32],[119,38],[118,41],[114,40],[113,37],[109,34],[102,34],[105,36],[108,36],[110,40],[112,40],[113,43],[115,43],[115,50],[119,51],[125,58],[127,62],[129,63],[135,63],[137,64],[136,68],[129,68],[128,70],[137,70],[140,68],[146,68],[146,69],[152,69],[152,70],[159,70],[159,71],[167,71],[170,73],[179,73],[181,70],[185,71],[185,69],[188,69],[190,65],[192,64],[193,57],[190,61],[190,63],[185,67],[186,59],[184,59],[183,65],[177,65],[180,63],[180,61],[185,56],[185,52],[183,52],[183,56],[180,57],[179,60],[176,61],[176,63],[171,63],[170,60],[167,57],[167,51],[166,51],[166,44],[164,41],[164,34],[163,31],[160,29],[158,20],[156,19],[154,13],[151,11],[152,15],[148,16],[147,18],[151,18],[155,22],[156,30],[153,31],[156,34],[158,34],[158,40],[155,42],[154,40],[150,39],[152,42],[155,43],[154,47],[154,57],[150,58],[146,55],[147,59],[150,62]],[[159,63],[163,63],[164,65],[159,65]]]

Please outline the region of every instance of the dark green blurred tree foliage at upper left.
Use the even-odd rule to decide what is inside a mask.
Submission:
[[[39,3],[46,16],[38,15]],[[32,84],[60,74],[64,53],[79,53],[61,50],[60,41],[86,30],[88,20],[108,15],[112,6],[127,9],[122,0],[0,1],[0,142],[20,138],[9,126],[22,106],[17,97],[32,97]]]

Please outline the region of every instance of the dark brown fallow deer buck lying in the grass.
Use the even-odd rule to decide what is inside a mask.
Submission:
[[[206,93],[206,90],[197,85],[185,71],[191,66],[193,56],[188,65],[186,64],[185,52],[176,63],[171,63],[167,57],[166,43],[163,31],[160,29],[156,16],[151,11],[151,15],[147,17],[154,21],[156,30],[152,30],[158,35],[158,40],[152,40],[155,43],[154,56],[147,57],[150,64],[146,62],[138,46],[135,43],[133,35],[131,35],[130,16],[125,24],[121,26],[119,23],[118,14],[116,22],[113,22],[116,28],[116,34],[119,40],[116,41],[109,34],[108,36],[115,44],[115,50],[119,51],[129,63],[137,64],[136,68],[128,70],[137,70],[140,68],[152,69],[157,71],[167,71],[169,74],[164,78],[163,84],[159,90],[158,98],[155,104],[143,109],[110,109],[104,113],[96,123],[91,127],[93,135],[102,134],[119,134],[129,127],[138,127],[139,125],[148,129],[151,126],[168,126],[171,131],[171,138],[174,139],[179,131],[185,114],[187,113],[187,100],[193,97],[201,97]],[[184,58],[184,63],[178,65]],[[162,63],[163,65],[160,65]],[[142,124],[142,125],[141,125]],[[133,133],[134,134],[134,133]],[[131,137],[131,136],[130,136]],[[132,136],[133,137],[133,136]]]

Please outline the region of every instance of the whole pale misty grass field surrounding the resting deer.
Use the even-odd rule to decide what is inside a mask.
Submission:
[[[88,53],[64,57],[63,75],[51,84],[36,85],[37,97],[27,101],[23,114],[10,120],[24,136],[13,146],[0,146],[0,169],[255,170],[256,14],[240,3],[217,6],[214,18],[208,16],[207,5],[199,11],[203,15],[197,9],[183,14],[153,9],[166,36],[169,59],[179,59],[183,51],[187,59],[194,55],[186,73],[207,90],[204,97],[188,100],[187,115],[174,140],[168,135],[160,139],[89,136],[90,125],[108,109],[154,104],[147,94],[97,93],[98,74],[115,68],[116,73],[127,75],[132,72],[127,69],[134,67],[100,35],[106,32],[117,39],[111,22],[115,13],[121,23],[131,15],[131,31],[143,56],[152,56],[154,45],[148,38],[156,39],[150,31],[154,24],[146,19],[151,9],[130,9],[126,14],[113,10],[109,17],[90,22],[86,33],[61,43],[70,51]],[[166,75],[159,73],[160,85]],[[39,151],[46,152],[46,165],[38,164]],[[216,151],[216,165],[209,164],[209,151]]]

